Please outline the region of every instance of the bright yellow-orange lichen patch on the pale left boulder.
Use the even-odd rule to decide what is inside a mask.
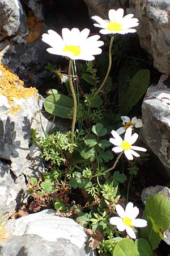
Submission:
[[[0,95],[4,95],[8,99],[8,104],[14,104],[14,98],[18,100],[35,96],[38,98],[36,88],[25,88],[24,82],[19,79],[7,66],[0,63]]]

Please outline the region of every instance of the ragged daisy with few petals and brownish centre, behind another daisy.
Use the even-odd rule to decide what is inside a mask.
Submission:
[[[120,127],[120,128],[118,128],[118,129],[116,130],[116,132],[117,132],[118,134],[123,134],[123,133],[125,133],[125,131],[128,129],[128,127],[130,127],[132,130],[134,130],[134,127],[135,127],[135,128],[141,128],[141,127],[143,126],[142,120],[141,120],[141,119],[137,119],[136,117],[133,117],[133,118],[131,118],[131,120],[130,120],[129,117],[122,116],[121,119],[122,119],[122,121],[123,121],[123,122],[122,122],[122,125],[123,125],[124,127]]]

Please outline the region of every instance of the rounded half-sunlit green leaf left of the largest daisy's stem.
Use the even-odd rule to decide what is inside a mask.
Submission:
[[[73,100],[65,95],[51,94],[45,98],[44,108],[46,112],[56,117],[69,118],[73,110]]]

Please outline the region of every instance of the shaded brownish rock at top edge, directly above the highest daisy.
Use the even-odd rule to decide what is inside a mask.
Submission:
[[[126,0],[84,0],[88,6],[90,15],[99,15],[101,18],[108,18],[108,11],[110,9],[118,9],[125,7]]]

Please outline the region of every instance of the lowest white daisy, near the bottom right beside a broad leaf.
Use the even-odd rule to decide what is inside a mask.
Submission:
[[[116,211],[120,217],[111,217],[110,223],[116,225],[119,231],[124,231],[128,233],[128,236],[136,239],[136,235],[133,230],[133,226],[137,228],[143,228],[147,226],[147,221],[142,218],[136,218],[139,214],[138,207],[133,207],[133,203],[129,202],[126,205],[126,209],[121,207],[120,204],[116,205]]]

